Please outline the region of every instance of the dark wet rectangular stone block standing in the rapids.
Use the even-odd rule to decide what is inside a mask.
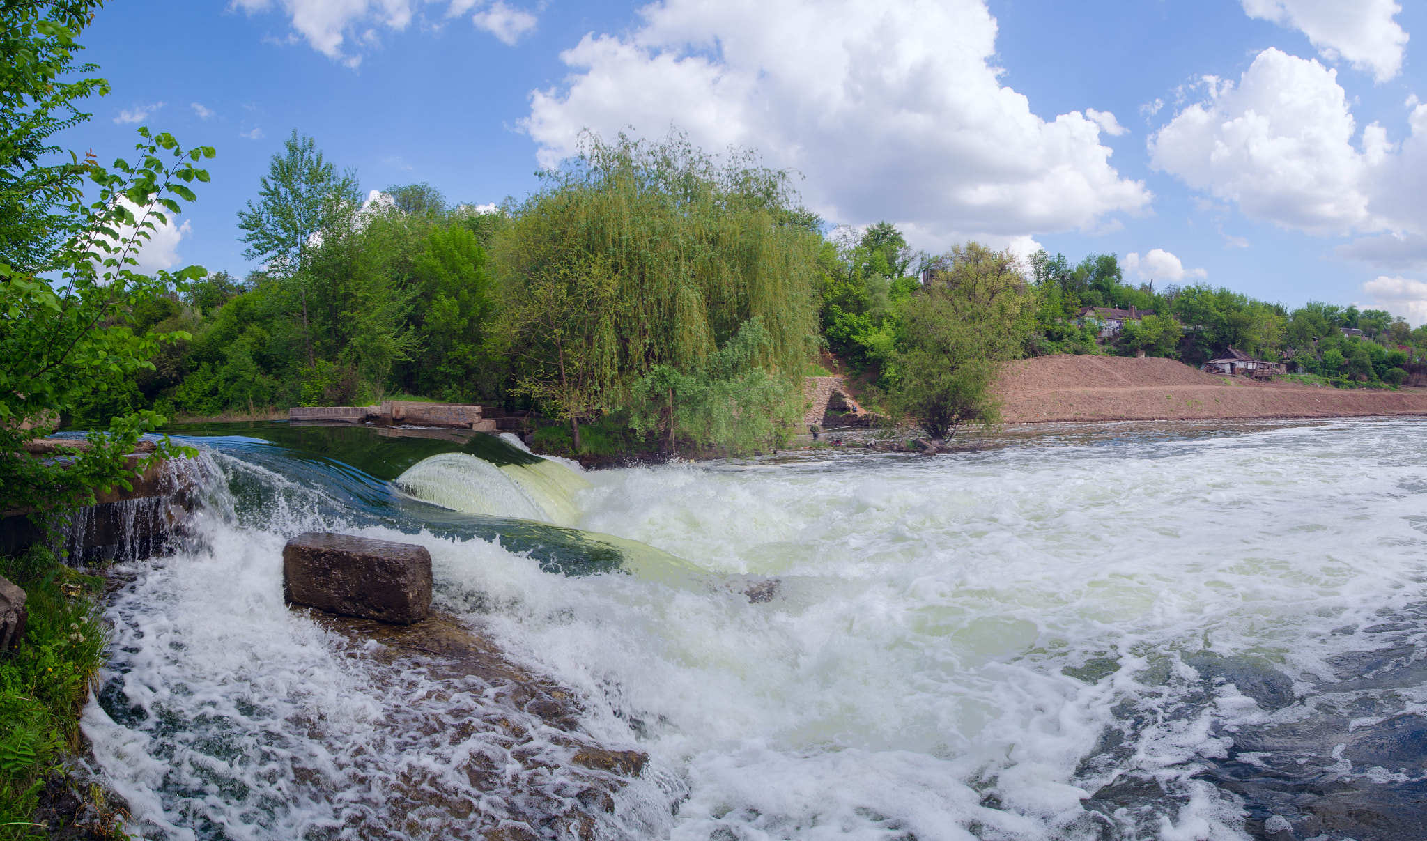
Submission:
[[[431,554],[410,543],[308,531],[283,548],[283,595],[290,604],[410,625],[431,613]]]

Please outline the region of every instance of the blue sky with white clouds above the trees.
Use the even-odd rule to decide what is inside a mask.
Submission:
[[[218,148],[153,266],[245,271],[235,214],[293,129],[364,188],[489,203],[585,127],[676,126],[915,247],[1427,321],[1427,3],[111,0],[84,43],[114,93],[66,141]]]

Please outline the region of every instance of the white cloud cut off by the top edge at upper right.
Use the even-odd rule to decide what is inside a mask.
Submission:
[[[1394,0],[1243,0],[1249,17],[1271,20],[1309,36],[1319,54],[1341,57],[1387,81],[1401,71],[1407,33],[1393,17]]]

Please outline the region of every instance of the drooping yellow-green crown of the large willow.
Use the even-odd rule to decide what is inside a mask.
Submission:
[[[816,348],[819,237],[788,173],[746,151],[721,163],[681,134],[586,133],[581,154],[544,177],[491,243],[501,311],[561,267],[598,258],[614,296],[611,393],[629,394],[661,366],[698,371],[759,318],[756,367],[781,373],[795,397]]]

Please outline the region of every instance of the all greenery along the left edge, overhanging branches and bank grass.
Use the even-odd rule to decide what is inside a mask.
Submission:
[[[107,413],[88,447],[63,458],[31,457],[26,444],[111,391],[134,391],[161,347],[191,338],[141,320],[204,271],[148,276],[136,254],[180,201],[195,198],[193,186],[208,180],[195,164],[214,156],[147,129],[133,158],[107,167],[50,141],[88,119],[86,99],[108,90],[77,57],[98,6],[0,4],[0,515],[29,517],[54,545],[56,528],[96,490],[127,488],[136,468],[177,454],[166,441],[151,457],[126,458],[166,420],[147,404]],[[0,575],[24,590],[29,613],[19,647],[0,651],[0,838],[47,837],[34,820],[39,792],[60,751],[77,747],[78,711],[107,644],[94,598],[101,581],[60,560],[43,544],[0,557]],[[108,814],[101,824],[106,837],[121,830]]]

